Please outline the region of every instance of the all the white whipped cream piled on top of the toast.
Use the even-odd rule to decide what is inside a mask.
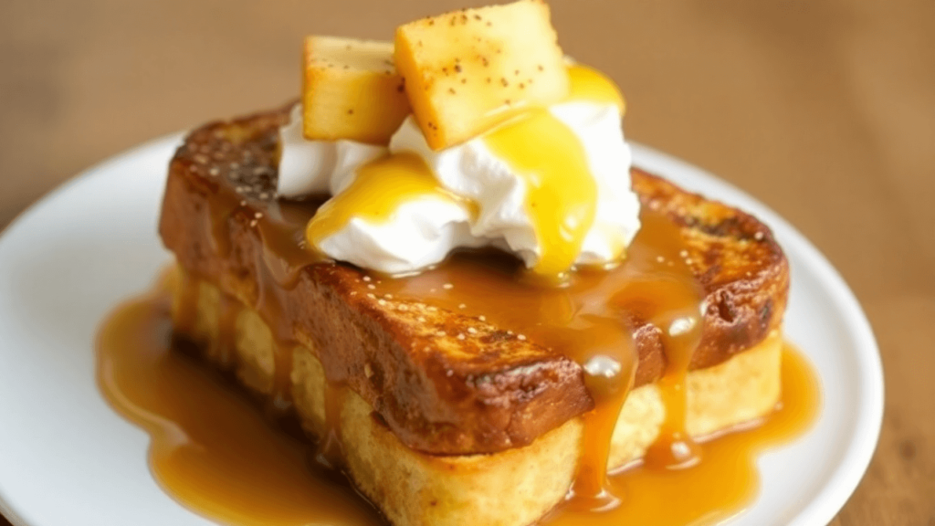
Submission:
[[[581,142],[597,185],[594,220],[574,264],[616,261],[640,229],[640,201],[630,186],[632,156],[624,139],[620,109],[614,104],[570,101],[555,104],[548,111]],[[293,123],[296,121],[300,119],[294,118]],[[433,151],[410,116],[396,131],[389,148],[380,149],[352,141],[305,141],[316,143],[309,145],[286,140],[294,137],[286,128],[282,131],[282,159],[289,164],[281,166],[281,195],[327,189],[333,197],[324,204],[326,210],[341,200],[361,167],[388,153],[418,156],[440,187],[439,192],[401,202],[379,221],[352,217],[315,242],[327,256],[391,274],[423,270],[461,247],[495,246],[521,257],[530,269],[539,262],[543,251],[526,208],[527,179],[492,151],[483,136]],[[298,135],[301,137],[300,131]],[[283,171],[287,172],[284,176]]]

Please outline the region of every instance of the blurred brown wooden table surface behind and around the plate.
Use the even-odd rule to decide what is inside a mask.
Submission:
[[[464,4],[0,2],[0,225],[140,141],[295,97],[306,34],[390,38]],[[870,316],[884,430],[832,524],[935,525],[935,2],[553,10],[564,49],[623,87],[629,138],[783,214]]]

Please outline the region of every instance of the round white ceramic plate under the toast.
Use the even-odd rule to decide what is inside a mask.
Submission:
[[[94,380],[94,335],[169,260],[156,236],[167,161],[180,137],[91,168],[0,238],[0,511],[16,526],[210,524],[160,489],[148,436]],[[733,525],[824,525],[864,474],[883,414],[870,325],[838,273],[776,213],[698,168],[637,147],[640,167],[754,212],[792,264],[789,339],[821,376],[824,408],[794,444],[759,461],[762,488]]]

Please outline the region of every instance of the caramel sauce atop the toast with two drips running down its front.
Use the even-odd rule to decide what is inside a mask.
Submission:
[[[645,323],[661,329],[671,368],[666,375],[670,381],[659,384],[671,403],[671,417],[650,462],[665,467],[691,461],[694,454],[683,431],[682,387],[701,335],[701,291],[680,257],[675,226],[654,212],[644,212],[642,220],[624,264],[579,270],[561,287],[523,283],[515,264],[511,269],[505,258],[498,261],[495,256],[453,257],[435,270],[373,283],[378,298],[418,298],[453,312],[483,316],[496,327],[548,344],[583,365],[596,408],[584,416],[586,446],[571,499],[578,508],[615,505],[606,482],[611,434],[639,363],[632,334]]]

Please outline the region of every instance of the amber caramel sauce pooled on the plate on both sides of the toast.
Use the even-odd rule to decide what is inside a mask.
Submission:
[[[225,378],[171,348],[167,293],[131,300],[98,335],[97,374],[108,402],[149,432],[159,484],[181,504],[225,524],[385,525],[334,475],[310,467],[308,442],[281,431]],[[755,460],[805,431],[820,404],[817,379],[795,348],[783,352],[783,399],[761,421],[700,445],[702,461],[681,470],[611,475],[621,499],[610,512],[561,506],[548,525],[711,524],[755,497]]]

